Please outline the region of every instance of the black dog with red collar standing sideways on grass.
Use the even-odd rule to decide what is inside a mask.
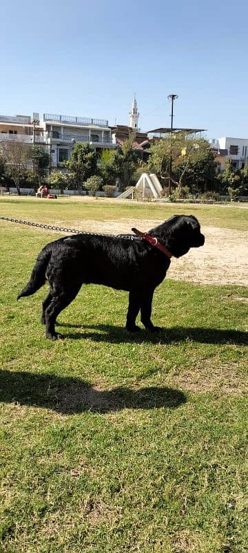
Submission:
[[[50,292],[43,301],[41,321],[46,336],[54,340],[59,337],[54,329],[56,317],[76,297],[81,285],[104,284],[129,292],[127,330],[139,330],[135,324],[139,310],[145,328],[157,330],[151,321],[152,297],[165,278],[169,258],[202,246],[205,237],[192,215],[174,215],[144,237],[78,234],[59,238],[41,250],[30,281],[17,299],[34,294],[48,280]]]

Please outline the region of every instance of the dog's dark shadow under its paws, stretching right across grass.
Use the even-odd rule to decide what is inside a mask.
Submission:
[[[200,344],[239,344],[248,345],[248,333],[241,330],[225,330],[220,328],[183,327],[161,328],[159,332],[150,333],[141,329],[140,332],[127,332],[123,327],[107,324],[73,325],[57,323],[67,328],[80,328],[81,332],[65,334],[63,338],[91,339],[93,341],[107,341],[112,344],[126,342],[152,342],[154,344],[169,344],[178,341],[196,341]]]

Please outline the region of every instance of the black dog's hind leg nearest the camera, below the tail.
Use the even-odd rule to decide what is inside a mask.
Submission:
[[[61,337],[61,335],[55,332],[54,327],[56,318],[63,309],[69,306],[74,297],[76,297],[76,294],[79,292],[80,288],[81,283],[74,285],[73,289],[63,289],[61,291],[57,291],[56,294],[52,294],[52,300],[45,309],[45,335],[47,338],[56,340]]]

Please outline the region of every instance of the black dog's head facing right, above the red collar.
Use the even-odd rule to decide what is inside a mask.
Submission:
[[[174,215],[153,229],[153,234],[166,241],[174,257],[185,255],[191,247],[200,247],[205,243],[205,236],[201,234],[200,224],[194,215]]]

